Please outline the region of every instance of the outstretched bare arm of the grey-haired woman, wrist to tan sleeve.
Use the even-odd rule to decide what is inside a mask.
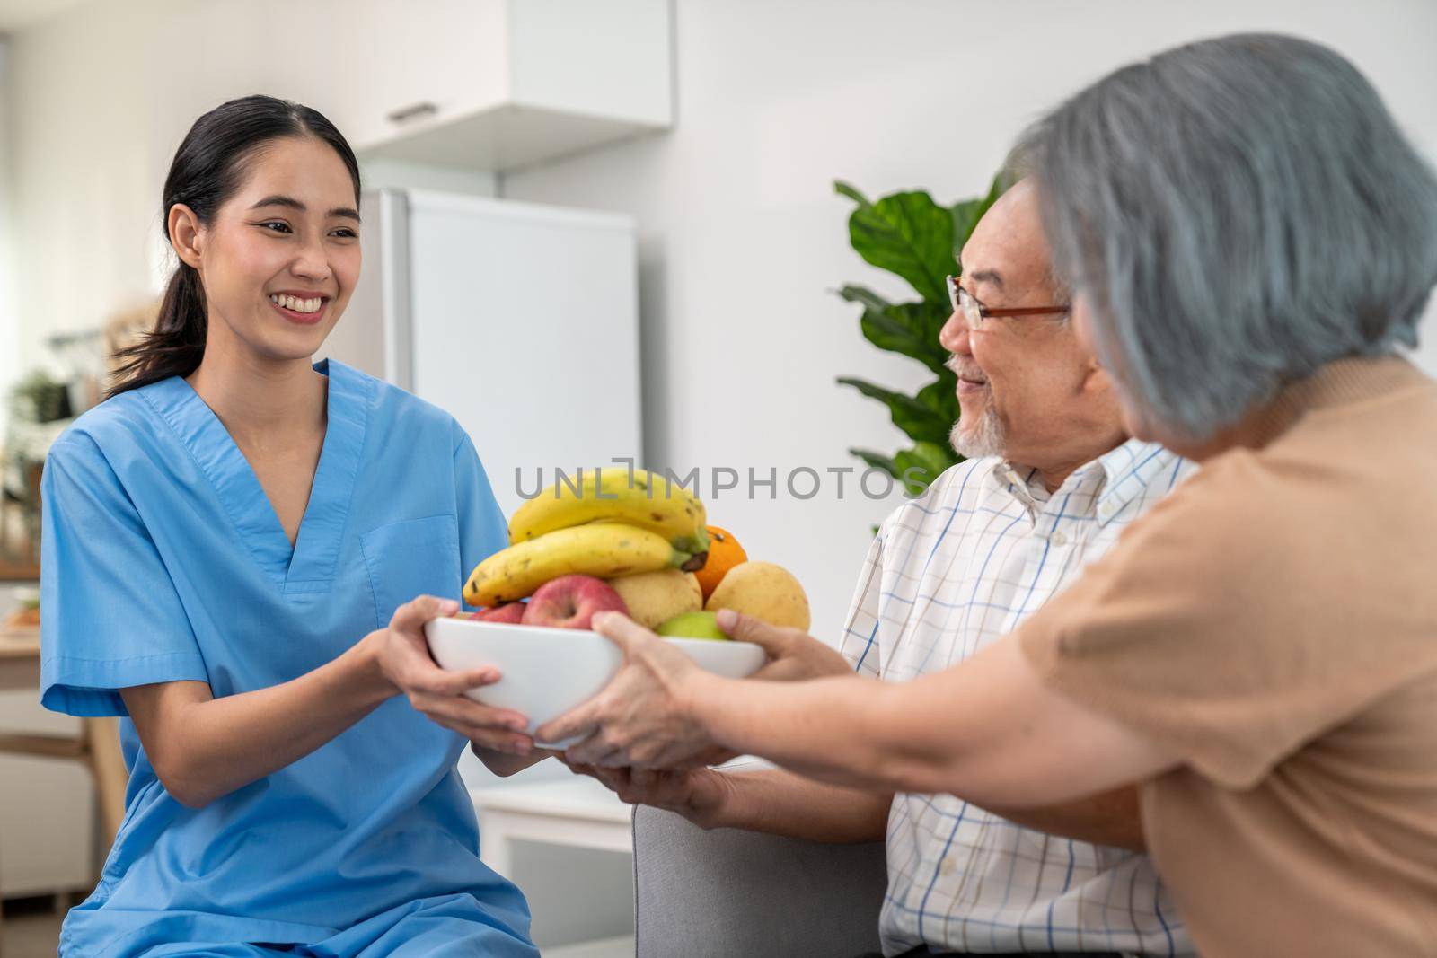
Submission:
[[[1171,768],[1157,743],[1043,688],[1013,641],[904,684],[696,674],[687,711],[714,743],[832,784],[1061,806]]]

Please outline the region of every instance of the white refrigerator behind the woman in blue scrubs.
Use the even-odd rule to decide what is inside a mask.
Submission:
[[[420,190],[366,192],[362,214],[323,355],[458,419],[506,516],[540,470],[642,464],[631,218]]]

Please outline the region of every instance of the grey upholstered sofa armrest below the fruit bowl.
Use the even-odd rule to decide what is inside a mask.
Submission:
[[[884,843],[818,845],[634,809],[638,958],[878,951]]]

